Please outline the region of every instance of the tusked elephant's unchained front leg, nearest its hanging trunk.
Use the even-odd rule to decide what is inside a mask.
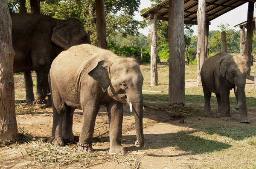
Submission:
[[[121,145],[122,138],[122,120],[123,105],[118,102],[107,104],[108,121],[109,121],[109,137],[110,137],[110,153],[123,153],[125,149]]]

